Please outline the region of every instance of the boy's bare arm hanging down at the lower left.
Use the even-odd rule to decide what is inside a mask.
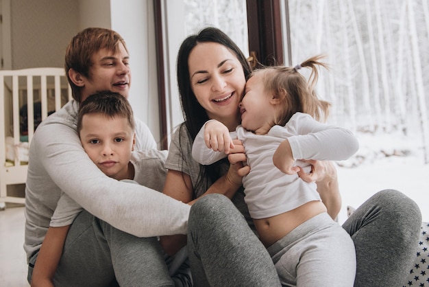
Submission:
[[[70,225],[49,227],[37,256],[32,275],[32,286],[53,286],[52,278],[60,262]]]

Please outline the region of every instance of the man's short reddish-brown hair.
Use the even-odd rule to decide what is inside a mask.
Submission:
[[[71,39],[66,48],[64,69],[71,86],[73,99],[80,102],[82,87],[78,87],[73,83],[69,77],[69,70],[73,69],[90,79],[89,68],[94,64],[91,61],[92,56],[100,49],[108,49],[116,53],[119,49],[119,43],[122,43],[125,50],[127,50],[121,35],[113,30],[97,27],[86,28]]]

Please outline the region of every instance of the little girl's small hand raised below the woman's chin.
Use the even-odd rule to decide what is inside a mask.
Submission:
[[[204,127],[204,142],[208,148],[215,152],[230,153],[230,149],[234,148],[234,143],[230,137],[228,128],[216,120],[206,123]]]

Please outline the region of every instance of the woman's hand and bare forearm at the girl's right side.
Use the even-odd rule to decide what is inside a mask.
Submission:
[[[311,172],[307,174],[300,169],[298,176],[308,183],[316,182],[317,192],[319,192],[322,202],[326,205],[328,214],[332,219],[336,219],[341,209],[341,194],[334,164],[331,161],[303,161],[310,163]]]

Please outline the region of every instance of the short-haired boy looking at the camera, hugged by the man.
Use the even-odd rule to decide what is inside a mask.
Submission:
[[[87,97],[79,107],[77,133],[85,152],[104,174],[117,181],[131,180],[158,192],[162,191],[167,152],[159,150],[132,152],[135,145],[134,117],[130,104],[121,94],[107,91]],[[62,194],[40,248],[32,285],[52,284],[70,228],[70,225],[63,226],[62,220],[68,218],[73,222],[80,211],[82,207],[66,194]],[[101,225],[104,227],[105,223],[102,222]],[[112,266],[121,286],[142,283],[172,284],[156,237],[137,238],[108,225],[105,228],[103,230],[117,233],[119,237],[129,242],[115,251],[114,246],[110,248],[111,242],[108,240],[111,253],[116,253],[116,258],[112,258]],[[131,268],[134,271],[132,274],[129,268],[121,267],[125,262],[129,267],[134,267]],[[138,272],[135,272],[136,268]]]

